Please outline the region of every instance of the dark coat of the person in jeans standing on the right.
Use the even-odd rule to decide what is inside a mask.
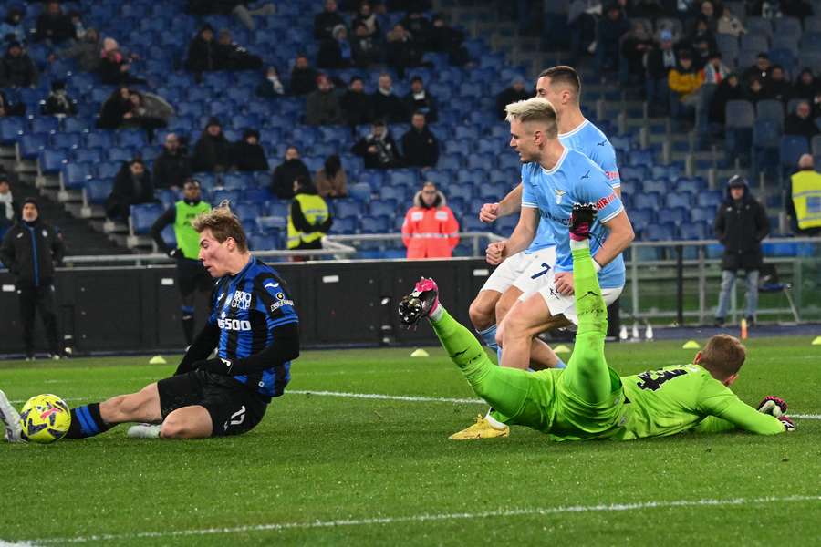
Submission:
[[[724,246],[722,270],[760,268],[762,263],[761,240],[770,232],[770,222],[764,206],[753,198],[750,189],[744,187],[739,201],[727,196],[715,215],[715,237]]]

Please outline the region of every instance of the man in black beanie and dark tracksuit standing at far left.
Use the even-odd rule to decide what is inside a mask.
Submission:
[[[23,349],[26,361],[35,357],[34,321],[39,311],[46,327],[49,356],[60,358],[55,313],[55,265],[62,262],[65,247],[63,237],[40,218],[35,198],[26,198],[20,220],[5,233],[0,246],[0,260],[15,276],[20,298]]]

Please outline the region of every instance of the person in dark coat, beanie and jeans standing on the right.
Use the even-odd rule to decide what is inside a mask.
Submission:
[[[733,175],[727,181],[727,196],[715,214],[715,237],[724,246],[722,257],[722,290],[715,326],[723,326],[730,307],[735,277],[743,270],[747,278],[747,325],[755,324],[758,308],[758,271],[763,254],[761,241],[770,232],[770,222],[764,205],[755,200],[747,180]]]

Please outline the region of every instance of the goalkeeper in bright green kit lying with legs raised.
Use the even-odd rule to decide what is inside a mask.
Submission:
[[[730,390],[744,362],[744,347],[733,336],[713,336],[691,365],[628,377],[618,377],[608,367],[607,307],[588,243],[595,216],[594,204],[576,204],[570,218],[578,331],[566,368],[527,372],[494,365],[473,334],[439,303],[432,279],[422,278],[402,299],[402,323],[416,325],[427,317],[473,391],[495,409],[494,418],[543,431],[554,440],[626,440],[732,429],[774,435],[795,429],[784,414],[783,400],[765,397],[756,410]]]

